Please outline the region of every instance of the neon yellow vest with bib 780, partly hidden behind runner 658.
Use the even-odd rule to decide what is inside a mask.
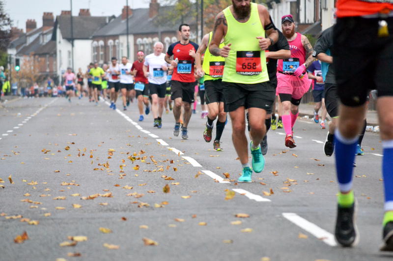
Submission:
[[[209,33],[209,42],[205,55],[203,56],[202,69],[205,71],[206,80],[218,80],[223,78],[223,71],[225,65],[225,58],[221,56],[214,56],[209,51],[209,45],[212,40],[213,32]],[[224,43],[220,44],[220,48],[224,47]]]

